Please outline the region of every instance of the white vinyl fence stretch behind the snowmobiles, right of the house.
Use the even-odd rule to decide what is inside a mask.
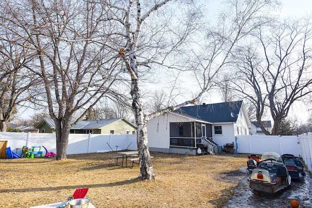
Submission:
[[[263,154],[274,151],[280,155],[301,156],[298,136],[237,135],[238,153]]]

